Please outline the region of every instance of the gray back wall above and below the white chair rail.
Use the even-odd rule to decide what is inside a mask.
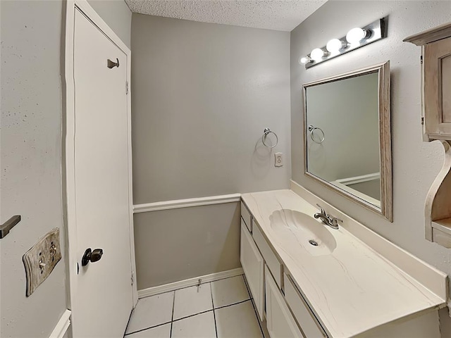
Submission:
[[[290,33],[134,13],[132,107],[135,204],[288,187]],[[279,137],[272,152],[261,144],[265,127]],[[275,151],[285,154],[281,168],[273,165]],[[235,220],[235,211],[226,213],[226,206],[221,210],[221,217]],[[199,215],[205,217],[199,225],[185,210],[173,225],[171,213],[175,211],[159,218],[135,215],[136,237],[147,236],[136,244],[140,287],[213,273],[218,268],[202,267],[223,266],[220,257],[206,251],[186,257],[190,270],[179,269],[167,253],[148,244],[183,231],[185,241],[194,245],[199,239],[189,230],[197,226],[222,234],[215,237],[216,244],[225,242],[221,223]],[[230,231],[239,226],[233,221]],[[151,238],[153,233],[159,237]],[[237,239],[223,252],[236,245]],[[183,246],[171,255],[184,256],[189,250]],[[152,256],[161,259],[158,266]],[[150,265],[156,270],[145,270]],[[235,261],[228,266],[240,265]]]

